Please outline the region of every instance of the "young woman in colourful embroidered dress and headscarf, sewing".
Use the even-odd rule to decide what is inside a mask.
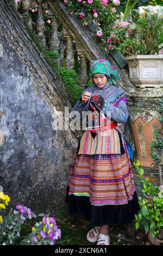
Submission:
[[[129,115],[123,90],[112,84],[112,79],[121,77],[106,59],[90,64],[93,86],[84,90],[73,111],[102,112],[105,119],[109,112],[111,120],[103,130],[101,124],[96,126],[94,115],[92,129],[80,137],[70,165],[66,202],[70,215],[87,217],[95,227],[87,233],[87,240],[109,245],[109,225],[130,223],[140,208],[131,147],[118,128]]]

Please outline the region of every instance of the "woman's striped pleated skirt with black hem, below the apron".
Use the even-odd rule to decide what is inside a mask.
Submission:
[[[122,154],[78,154],[78,145],[67,182],[68,214],[95,226],[134,220],[140,208],[126,141],[120,141]]]

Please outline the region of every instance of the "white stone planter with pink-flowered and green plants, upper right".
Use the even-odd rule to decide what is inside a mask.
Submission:
[[[136,87],[163,86],[163,19],[160,11],[146,9],[134,23],[117,21],[110,35],[110,51],[120,50],[129,64],[130,80]]]

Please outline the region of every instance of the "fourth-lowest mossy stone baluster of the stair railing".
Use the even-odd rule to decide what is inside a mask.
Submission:
[[[42,45],[46,46],[46,39],[45,39],[45,35],[43,34],[43,32],[45,31],[45,22],[43,20],[42,3],[43,3],[43,0],[37,0],[38,13],[37,13],[36,25],[37,25],[37,35],[40,36]]]

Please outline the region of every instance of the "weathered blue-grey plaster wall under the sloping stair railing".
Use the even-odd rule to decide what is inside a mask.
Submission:
[[[59,77],[52,77],[41,59],[37,62],[32,42],[26,38],[27,47],[23,41],[23,26],[19,33],[7,19],[1,11],[0,185],[10,205],[54,213],[65,205],[68,166],[77,145],[71,131],[54,130],[55,115],[70,103],[62,100],[67,95]]]

